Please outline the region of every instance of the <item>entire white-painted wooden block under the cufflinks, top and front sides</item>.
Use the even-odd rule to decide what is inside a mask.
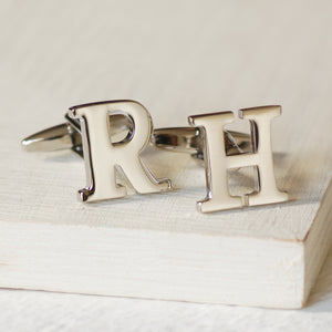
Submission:
[[[48,14],[29,21],[35,7],[6,7],[14,20],[0,21],[1,46],[14,42],[0,52],[0,287],[301,308],[332,238],[329,10],[117,6],[91,24],[92,4],[44,4],[38,12]],[[142,102],[156,126],[282,104],[276,177],[292,201],[200,215],[201,166],[148,152],[146,164],[173,179],[174,193],[79,203],[82,160],[28,154],[20,139],[60,123],[66,106],[112,98]]]

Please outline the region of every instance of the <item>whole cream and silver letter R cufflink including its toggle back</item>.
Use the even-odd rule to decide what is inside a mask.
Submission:
[[[87,185],[79,190],[82,201],[126,196],[116,184],[125,175],[139,194],[172,189],[169,179],[157,179],[141,158],[152,136],[148,111],[134,101],[110,101],[73,106],[66,123],[22,141],[28,151],[71,148],[84,157]],[[125,135],[123,136],[123,134]]]

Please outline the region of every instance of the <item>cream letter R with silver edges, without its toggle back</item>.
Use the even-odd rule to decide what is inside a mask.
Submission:
[[[118,113],[131,118],[133,128],[121,143],[112,144],[110,115]],[[118,168],[141,194],[172,187],[169,179],[156,179],[139,158],[139,153],[152,135],[152,120],[143,105],[134,101],[86,104],[71,108],[69,116],[80,118],[82,127],[87,187],[79,190],[81,200],[95,201],[126,196],[126,188],[116,184]]]

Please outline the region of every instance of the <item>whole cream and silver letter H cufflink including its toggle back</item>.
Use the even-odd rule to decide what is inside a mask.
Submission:
[[[165,135],[155,136],[154,143],[158,148],[187,152],[204,159],[207,196],[197,203],[201,212],[282,203],[288,200],[288,194],[276,185],[271,147],[271,121],[278,115],[281,115],[279,105],[240,110],[239,117],[250,122],[250,135],[225,131],[225,125],[234,122],[232,112],[193,115],[188,117],[193,127],[181,128],[181,132],[178,128],[164,129]],[[193,131],[199,134],[188,137],[183,134]],[[169,139],[166,139],[167,133],[173,133]],[[228,170],[248,166],[256,168],[257,190],[231,196]]]

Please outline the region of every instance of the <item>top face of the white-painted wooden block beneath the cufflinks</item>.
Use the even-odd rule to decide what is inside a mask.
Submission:
[[[144,2],[139,8],[4,2],[2,225],[13,225],[13,235],[21,229],[18,242],[25,229],[33,239],[39,225],[50,224],[305,240],[331,178],[330,12],[325,1]],[[82,206],[75,191],[85,183],[83,163],[71,154],[25,154],[19,141],[60,123],[71,105],[111,98],[138,100],[156,127],[186,125],[196,113],[282,104],[283,115],[272,126],[276,175],[293,201],[201,216],[195,210],[205,196],[199,165],[185,156],[174,157],[175,165],[168,155],[149,153],[146,159],[159,176],[174,179],[175,193]],[[324,245],[319,238],[315,243]],[[12,271],[13,256],[1,258],[6,271]]]

